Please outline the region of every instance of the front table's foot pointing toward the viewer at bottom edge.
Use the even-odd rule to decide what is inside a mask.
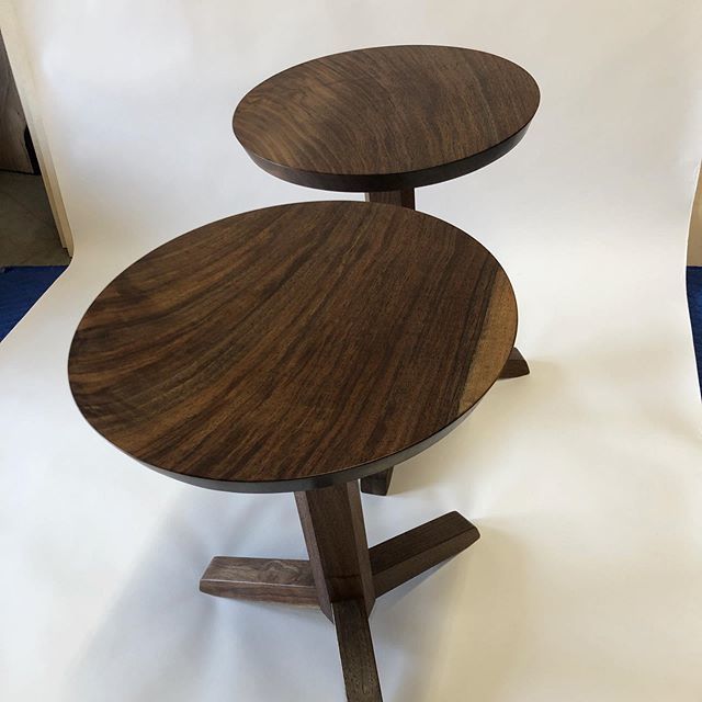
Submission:
[[[348,702],[382,702],[373,639],[362,599],[332,604]]]

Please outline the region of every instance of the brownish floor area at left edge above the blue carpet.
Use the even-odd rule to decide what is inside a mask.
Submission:
[[[69,261],[41,176],[0,171],[0,268]]]

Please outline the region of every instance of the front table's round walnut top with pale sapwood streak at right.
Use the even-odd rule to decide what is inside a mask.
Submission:
[[[497,380],[512,287],[460,229],[359,202],[184,234],[120,274],[73,338],[70,387],[113,444],[189,483],[312,489],[448,432]]]

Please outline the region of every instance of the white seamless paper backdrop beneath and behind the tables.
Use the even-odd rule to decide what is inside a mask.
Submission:
[[[147,250],[236,212],[335,197],[248,160],[229,126],[248,89],[331,52],[433,43],[511,58],[542,89],[513,152],[418,192],[508,270],[532,375],[396,469],[393,497],[364,498],[372,542],[451,509],[483,532],[378,602],[385,699],[699,702],[683,265],[702,5],[12,1],[76,257],[0,344],[0,698],[342,699],[321,614],[197,592],[214,554],[303,557],[292,498],[140,467],[79,416],[66,359],[90,301]]]

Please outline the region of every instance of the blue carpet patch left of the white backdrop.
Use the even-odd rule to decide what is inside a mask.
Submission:
[[[66,265],[0,268],[0,340],[66,270]]]

